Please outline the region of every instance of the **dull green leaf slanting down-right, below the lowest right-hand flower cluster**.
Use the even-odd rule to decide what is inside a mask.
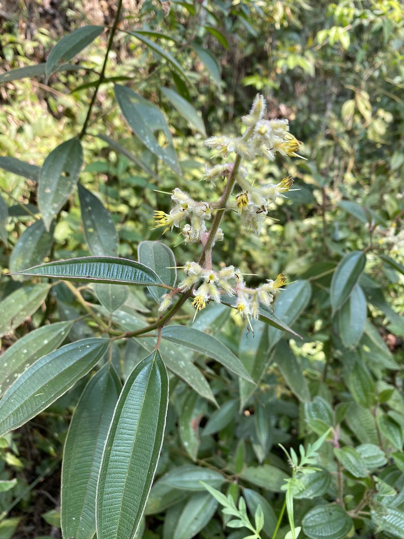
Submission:
[[[276,345],[273,359],[296,397],[302,402],[310,400],[309,386],[303,376],[302,367],[287,343],[280,342]]]

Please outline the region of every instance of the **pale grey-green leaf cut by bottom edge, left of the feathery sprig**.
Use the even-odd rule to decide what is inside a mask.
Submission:
[[[217,508],[217,500],[207,492],[191,496],[179,516],[173,539],[196,536],[210,522]]]

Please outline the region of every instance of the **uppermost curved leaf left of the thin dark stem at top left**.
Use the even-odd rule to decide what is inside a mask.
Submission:
[[[82,26],[63,37],[53,47],[46,60],[46,84],[49,77],[92,43],[103,31],[103,26]]]

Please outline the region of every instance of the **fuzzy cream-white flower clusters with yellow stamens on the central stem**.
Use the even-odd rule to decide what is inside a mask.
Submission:
[[[222,201],[218,203],[194,201],[187,193],[180,189],[172,191],[171,199],[173,208],[170,213],[155,211],[156,228],[164,227],[163,234],[172,230],[173,227],[180,229],[186,243],[201,243],[204,248],[210,236],[210,230],[206,227],[206,221],[212,219],[217,211],[233,210],[241,217],[241,224],[248,227],[259,235],[268,214],[268,206],[275,202],[277,197],[284,197],[293,184],[291,176],[287,176],[279,183],[267,183],[253,186],[247,179],[247,170],[240,165],[241,159],[253,161],[257,156],[266,157],[273,161],[275,154],[291,157],[302,157],[297,154],[303,146],[301,141],[289,133],[288,120],[263,120],[265,112],[265,100],[262,95],[257,95],[250,113],[242,117],[242,122],[247,126],[245,133],[238,138],[229,136],[214,136],[205,141],[208,148],[218,150],[218,154],[238,154],[239,160],[234,163],[223,163],[212,168],[206,167],[204,179],[213,184],[219,177],[233,178],[241,191],[235,195],[234,201],[229,201],[225,207]],[[237,163],[237,164],[236,164]],[[185,225],[182,227],[182,223]],[[182,228],[181,228],[182,227]],[[210,238],[210,249],[215,241],[224,238],[220,228],[215,232],[215,237]],[[206,255],[208,254],[208,255]],[[243,274],[234,268],[227,266],[220,271],[212,269],[210,253],[205,253],[204,267],[197,262],[186,262],[183,267],[186,277],[178,287],[169,294],[164,294],[159,311],[162,312],[171,304],[173,295],[177,292],[192,290],[194,297],[192,305],[196,313],[205,308],[206,303],[213,300],[220,303],[224,296],[233,296],[229,301],[241,317],[246,317],[248,326],[251,327],[251,318],[257,320],[260,303],[269,307],[274,299],[274,294],[282,290],[287,279],[282,272],[275,280],[267,279],[266,284],[257,288],[246,287]],[[231,281],[231,282],[229,282]]]

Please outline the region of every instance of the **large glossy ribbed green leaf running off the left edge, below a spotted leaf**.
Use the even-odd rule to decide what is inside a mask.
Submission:
[[[0,401],[0,436],[17,429],[64,395],[95,367],[108,344],[104,338],[82,339],[30,365]]]

